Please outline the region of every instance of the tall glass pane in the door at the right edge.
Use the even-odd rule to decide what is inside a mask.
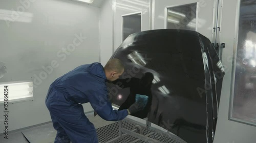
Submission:
[[[256,123],[256,0],[242,0],[232,118]]]

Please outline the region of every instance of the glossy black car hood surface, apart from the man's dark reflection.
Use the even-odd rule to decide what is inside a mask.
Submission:
[[[212,142],[225,73],[209,39],[186,30],[145,31],[127,37],[111,58],[125,65],[121,79],[153,73],[148,121],[189,143]],[[130,89],[108,85],[121,106]]]

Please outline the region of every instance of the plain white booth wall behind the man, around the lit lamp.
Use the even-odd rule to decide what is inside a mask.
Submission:
[[[33,101],[9,104],[9,131],[48,122],[49,85],[79,65],[99,62],[99,8],[72,1],[13,0],[1,1],[0,12],[0,61],[8,70],[0,82],[34,82]],[[52,68],[53,61],[57,67]],[[85,112],[91,110],[84,104]],[[3,116],[0,132],[2,121]]]

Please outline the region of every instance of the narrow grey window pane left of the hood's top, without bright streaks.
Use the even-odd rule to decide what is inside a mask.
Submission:
[[[141,14],[123,16],[123,41],[131,34],[141,31]]]

